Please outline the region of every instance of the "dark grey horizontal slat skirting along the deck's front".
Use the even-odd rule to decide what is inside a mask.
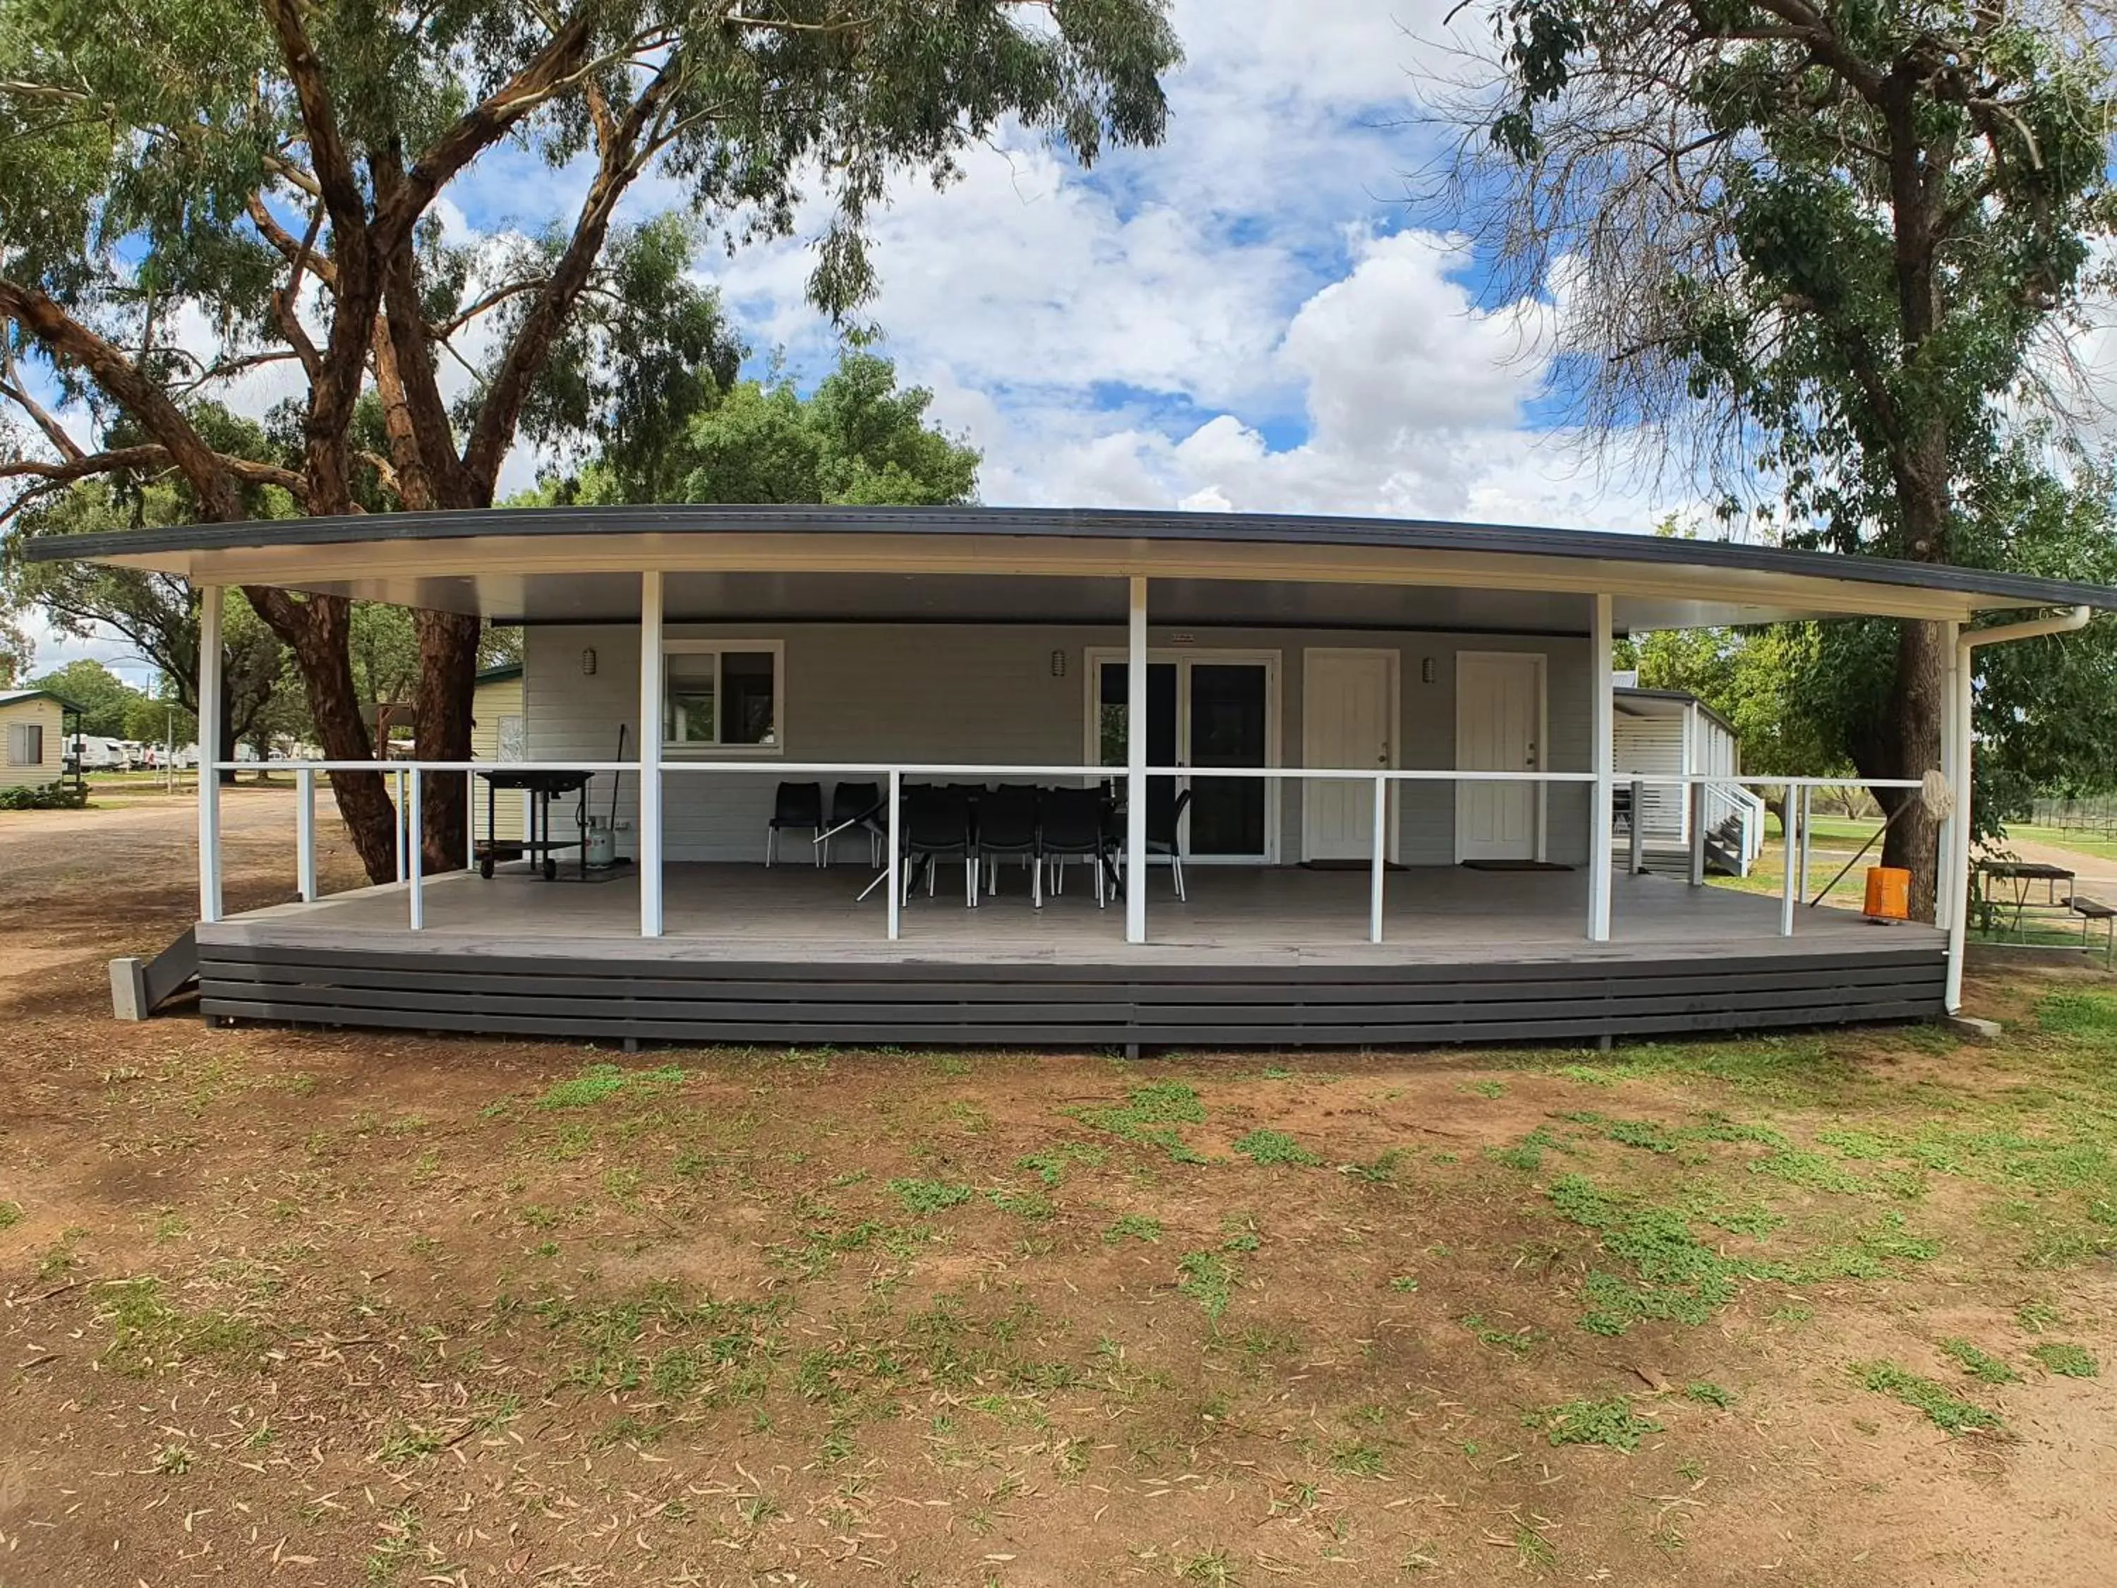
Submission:
[[[735,963],[201,944],[207,1018],[483,1035],[1296,1048],[1584,1042],[1941,1014],[1933,949],[1592,963]]]

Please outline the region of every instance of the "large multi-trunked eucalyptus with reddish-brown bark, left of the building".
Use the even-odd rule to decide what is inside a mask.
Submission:
[[[563,415],[569,381],[593,402],[622,377],[622,275],[656,237],[618,212],[646,178],[728,246],[813,224],[811,294],[847,315],[895,178],[946,182],[1010,119],[1082,161],[1152,144],[1175,59],[1164,0],[0,0],[0,398],[34,438],[0,476],[157,468],[210,521],[258,485],[351,512],[364,476],[390,506],[487,506],[525,423]],[[442,199],[478,169],[567,214],[533,248],[466,243]],[[711,362],[703,326],[677,335],[648,349],[663,368]],[[290,457],[233,455],[193,421],[243,379],[294,390]],[[364,396],[381,447],[356,440]],[[326,754],[366,760],[347,603],[250,601]],[[476,622],[423,612],[417,639],[419,754],[462,758]],[[387,874],[381,777],[332,783]],[[434,794],[442,866],[462,790]]]

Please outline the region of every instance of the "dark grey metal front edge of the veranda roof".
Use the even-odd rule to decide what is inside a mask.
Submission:
[[[616,506],[616,508],[481,508],[459,512],[379,512],[320,519],[260,519],[89,536],[42,536],[28,542],[32,561],[150,557],[260,546],[332,546],[360,542],[438,542],[481,536],[582,534],[921,534],[1029,536],[1135,542],[1222,542],[1279,546],[1357,546],[1380,551],[1450,551],[1520,557],[1624,561],[1662,567],[1787,574],[1861,584],[1950,591],[1988,603],[2092,606],[2117,610],[2117,589],[2068,580],[1998,574],[1982,567],[1907,563],[1880,557],[1778,551],[1719,540],[1552,529],[1533,525],[1442,523],[1421,519],[1357,519],[1266,512],[1171,512],[1135,508],[847,508],[847,506]]]

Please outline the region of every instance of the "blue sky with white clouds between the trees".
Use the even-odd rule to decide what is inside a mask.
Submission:
[[[984,451],[1001,504],[1202,506],[1645,529],[1539,407],[1548,305],[1482,305],[1461,239],[1423,231],[1406,174],[1446,61],[1444,6],[1177,0],[1188,61],[1169,138],[1094,172],[1023,136],[876,222],[868,318],[934,413]],[[582,176],[487,159],[442,210],[459,235],[538,227]],[[654,182],[631,212],[675,201]],[[815,216],[811,216],[815,220]],[[804,237],[701,254],[758,362],[836,358],[807,305]],[[279,396],[269,377],[239,407]],[[523,485],[538,459],[510,459]],[[44,635],[38,665],[116,658]]]

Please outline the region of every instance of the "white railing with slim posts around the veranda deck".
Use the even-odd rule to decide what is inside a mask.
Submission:
[[[250,762],[214,762],[212,771],[231,771],[246,766]],[[470,811],[468,811],[468,849],[474,853],[474,832],[476,832],[476,775],[478,773],[633,773],[641,775],[641,762],[637,760],[301,760],[301,762],[275,762],[282,769],[294,773],[296,779],[296,866],[301,879],[301,898],[315,900],[315,775],[318,773],[351,773],[351,771],[373,771],[394,779],[398,788],[398,881],[406,887],[406,925],[413,932],[426,930],[426,864],[421,845],[417,841],[406,843],[406,832],[421,832],[423,815],[423,792],[428,777],[459,775],[468,783]],[[902,930],[902,832],[900,832],[900,811],[906,777],[936,777],[955,781],[987,781],[987,779],[1082,779],[1086,783],[1094,781],[1128,781],[1133,773],[1124,766],[1080,766],[1080,764],[987,764],[987,762],[819,762],[819,760],[665,760],[658,766],[648,764],[646,771],[661,775],[737,775],[737,777],[775,777],[785,779],[790,775],[802,777],[874,777],[887,779],[885,811],[887,811],[887,864],[883,874],[887,877],[889,908],[887,908],[887,936],[891,942],[900,938]],[[1389,887],[1389,792],[1391,786],[1401,783],[1528,783],[1528,786],[1598,786],[1596,773],[1560,773],[1560,771],[1444,771],[1444,769],[1313,769],[1313,766],[1145,766],[1139,777],[1169,777],[1179,781],[1192,779],[1260,779],[1260,781],[1317,781],[1317,783],[1372,783],[1374,788],[1374,832],[1370,838],[1372,860],[1370,860],[1370,891],[1368,891],[1368,940],[1382,942],[1382,923],[1387,910],[1387,887]],[[1706,826],[1700,819],[1704,815],[1706,800],[1715,794],[1734,788],[1742,790],[1747,800],[1757,800],[1751,790],[1757,788],[1783,788],[1787,790],[1787,866],[1785,866],[1785,887],[1780,898],[1780,936],[1793,936],[1795,932],[1795,904],[1799,902],[1810,858],[1810,800],[1819,788],[1895,788],[1895,790],[1916,790],[1922,783],[1916,779],[1848,779],[1848,777],[1727,777],[1723,773],[1689,773],[1689,775],[1649,775],[1649,777],[1626,777],[1634,790],[1634,811],[1641,805],[1639,792],[1645,788],[1677,788],[1685,790],[1691,802],[1691,883],[1704,883],[1704,832]],[[1611,866],[1611,845],[1609,845],[1609,786],[1603,790],[1603,824],[1590,822],[1590,834],[1600,832],[1600,838],[1590,841],[1590,891],[1596,883],[1607,889],[1607,872]],[[1761,800],[1757,800],[1761,807]],[[1130,836],[1130,834],[1128,834]],[[1761,841],[1761,824],[1759,824]],[[1122,855],[1122,870],[1135,879],[1145,877],[1145,866],[1152,855],[1145,851],[1143,841],[1137,845],[1128,841]],[[658,851],[656,851],[658,853]],[[210,864],[218,870],[218,845],[210,855]],[[1632,826],[1632,858],[1630,868],[1641,870],[1641,838],[1639,824]],[[218,883],[218,877],[216,877]],[[658,900],[661,900],[661,877],[656,874],[650,883],[641,870],[641,887],[654,887],[654,921],[658,921]],[[1143,881],[1135,885],[1143,887]],[[214,887],[218,894],[218,885]],[[1605,891],[1607,898],[1607,891]],[[1594,910],[1594,902],[1590,902]],[[644,915],[641,921],[648,917]],[[644,932],[644,936],[648,936]],[[658,936],[658,934],[654,934]],[[1590,925],[1592,936],[1592,925]]]

